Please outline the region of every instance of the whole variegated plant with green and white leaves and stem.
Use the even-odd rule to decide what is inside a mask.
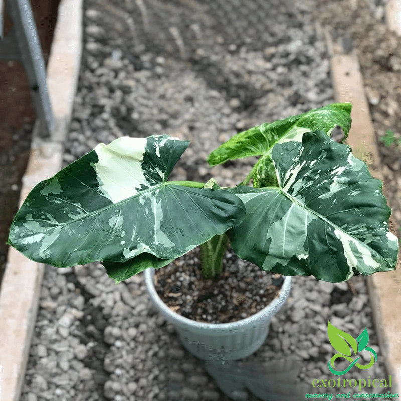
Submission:
[[[395,268],[382,184],[350,148],[350,104],[332,104],[240,133],[209,163],[261,156],[233,188],[169,181],[189,145],[167,135],[122,137],[39,183],[8,243],[58,267],[102,261],[119,282],[200,246],[206,278],[221,271],[228,239],[266,271],[340,282]],[[253,178],[254,187],[247,186]]]

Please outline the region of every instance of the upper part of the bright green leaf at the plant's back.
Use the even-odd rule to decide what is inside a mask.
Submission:
[[[339,125],[345,137],[351,126],[351,104],[334,103],[307,113],[289,117],[240,132],[223,143],[208,157],[212,166],[249,156],[270,155],[276,143],[301,141],[306,132],[322,130],[328,136]]]

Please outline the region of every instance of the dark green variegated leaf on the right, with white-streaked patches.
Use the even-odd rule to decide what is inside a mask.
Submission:
[[[349,146],[323,131],[272,152],[279,187],[230,189],[246,218],[228,235],[238,256],[264,270],[340,282],[395,268],[397,238],[382,183]]]

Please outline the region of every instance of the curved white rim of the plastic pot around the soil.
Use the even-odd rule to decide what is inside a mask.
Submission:
[[[260,320],[265,320],[266,315],[273,316],[284,304],[285,299],[288,296],[288,293],[291,289],[291,276],[283,276],[284,282],[281,286],[279,296],[275,298],[269,305],[260,310],[259,312],[253,314],[252,316],[246,317],[244,319],[238,320],[236,322],[229,323],[203,323],[196,322],[194,320],[188,319],[187,317],[181,316],[178,313],[172,311],[159,297],[156,292],[153,283],[153,274],[155,269],[150,268],[144,271],[145,274],[145,283],[148,289],[148,292],[152,298],[152,300],[156,303],[157,307],[163,312],[165,315],[168,315],[171,320],[173,320],[176,324],[181,324],[184,326],[191,326],[197,329],[204,330],[213,330],[215,332],[232,329],[232,328],[242,328],[245,326],[253,325],[258,323]]]

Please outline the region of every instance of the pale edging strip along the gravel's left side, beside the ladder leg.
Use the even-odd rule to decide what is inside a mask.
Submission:
[[[61,0],[47,67],[56,129],[50,140],[34,135],[20,202],[62,167],[82,55],[82,0]],[[35,130],[34,130],[35,131]],[[34,132],[35,134],[35,132]],[[36,322],[44,265],[10,247],[0,292],[0,401],[19,401]]]

